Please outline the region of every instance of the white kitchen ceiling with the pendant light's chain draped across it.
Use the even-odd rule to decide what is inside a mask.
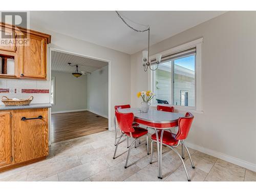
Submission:
[[[151,45],[199,25],[225,11],[120,11],[134,22],[150,25]],[[127,20],[127,19],[126,19]],[[147,33],[128,28],[115,11],[31,11],[31,28],[38,26],[133,54],[147,47]],[[136,28],[143,26],[127,23]]]

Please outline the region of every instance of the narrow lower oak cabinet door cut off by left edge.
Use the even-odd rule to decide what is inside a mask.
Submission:
[[[10,112],[0,112],[0,167],[11,164]]]

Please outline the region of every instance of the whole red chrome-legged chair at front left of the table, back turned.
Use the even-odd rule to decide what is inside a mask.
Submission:
[[[116,148],[115,148],[115,153],[113,156],[113,159],[116,158],[116,151],[117,151],[117,147],[118,144],[120,142],[121,137],[125,134],[127,137],[131,137],[134,138],[134,141],[131,143],[131,145],[129,146],[129,151],[127,154],[127,159],[126,159],[126,163],[124,168],[127,168],[127,164],[128,164],[128,160],[130,157],[130,153],[131,153],[131,149],[134,145],[134,143],[142,136],[146,135],[146,142],[147,142],[147,155],[149,155],[149,150],[148,150],[148,136],[147,136],[147,130],[143,129],[141,127],[138,126],[133,126],[133,121],[134,121],[134,114],[133,113],[119,113],[116,110],[116,119],[119,125],[119,129],[122,133],[122,135],[119,137],[117,144],[116,144]]]

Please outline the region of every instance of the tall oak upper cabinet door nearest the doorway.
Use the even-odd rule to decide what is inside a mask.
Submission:
[[[46,79],[46,39],[29,35],[25,40],[28,43],[23,46],[20,78]]]

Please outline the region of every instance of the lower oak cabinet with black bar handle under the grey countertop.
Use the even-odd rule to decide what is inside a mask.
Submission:
[[[47,108],[0,111],[0,172],[48,153]]]

